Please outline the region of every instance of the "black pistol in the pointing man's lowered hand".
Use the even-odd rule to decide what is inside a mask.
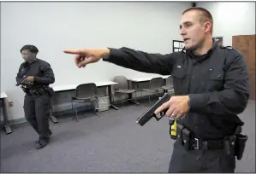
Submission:
[[[165,93],[164,96],[162,96],[161,98],[159,98],[158,102],[156,102],[150,109],[148,109],[146,111],[146,113],[144,113],[140,118],[137,119],[136,123],[143,126],[146,124],[147,121],[149,121],[150,119],[152,119],[153,117],[155,119],[157,119],[157,121],[159,121],[160,119],[162,119],[164,117],[164,114],[166,113],[166,111],[161,112],[160,113],[160,117],[158,118],[157,115],[154,113],[155,110],[160,107],[162,104],[164,104],[164,102],[169,101],[170,99],[170,94]]]

